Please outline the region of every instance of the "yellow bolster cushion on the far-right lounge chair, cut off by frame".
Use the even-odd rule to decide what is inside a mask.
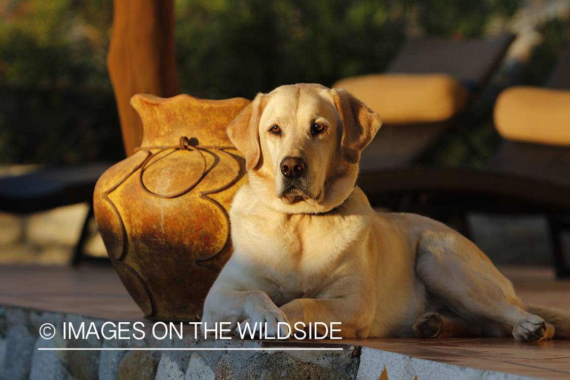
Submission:
[[[508,140],[570,145],[570,91],[508,88],[495,103],[494,120]]]

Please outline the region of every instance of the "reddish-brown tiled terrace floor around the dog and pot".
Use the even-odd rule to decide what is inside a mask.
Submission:
[[[524,302],[570,310],[570,280],[556,281],[553,271],[543,268],[501,270]],[[143,318],[111,267],[0,266],[0,304],[114,321]],[[367,339],[342,343],[475,369],[570,379],[570,340],[522,344],[509,338]]]

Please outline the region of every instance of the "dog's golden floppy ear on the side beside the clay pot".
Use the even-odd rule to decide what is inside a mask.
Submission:
[[[255,99],[226,127],[231,144],[246,158],[246,170],[257,166],[261,148],[259,146],[259,116],[265,105],[265,95],[258,93]]]

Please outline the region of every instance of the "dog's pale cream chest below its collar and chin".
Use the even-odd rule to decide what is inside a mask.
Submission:
[[[363,261],[355,255],[365,251],[373,215],[364,195],[327,214],[279,213],[243,186],[230,210],[232,259],[275,302],[325,297],[321,289],[347,278]]]

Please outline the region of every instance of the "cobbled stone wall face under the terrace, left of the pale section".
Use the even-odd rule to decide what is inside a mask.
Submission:
[[[0,379],[10,380],[253,380],[356,379],[359,353],[345,345],[339,351],[170,350],[186,348],[262,348],[259,341],[63,339],[63,322],[75,326],[105,322],[76,314],[0,307]],[[44,323],[55,337],[39,336]],[[153,348],[155,350],[50,351],[38,348]],[[168,349],[168,350],[165,350]]]

